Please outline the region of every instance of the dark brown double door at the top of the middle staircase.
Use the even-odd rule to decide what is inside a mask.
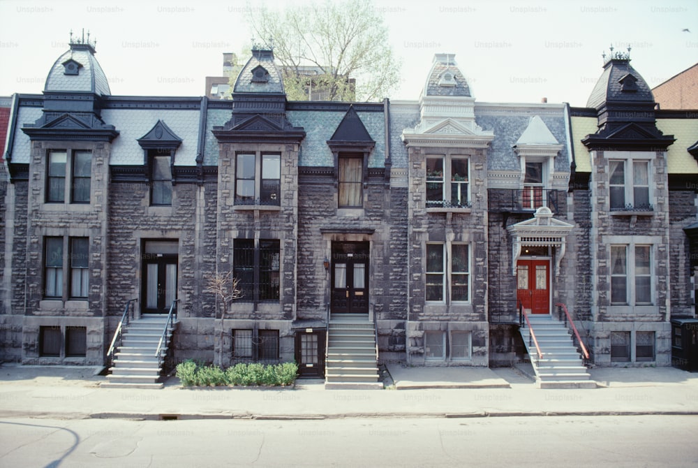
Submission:
[[[369,242],[332,244],[332,313],[369,313]]]

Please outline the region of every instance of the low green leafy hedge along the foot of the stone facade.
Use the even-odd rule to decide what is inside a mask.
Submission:
[[[177,377],[182,386],[287,386],[296,380],[298,365],[282,364],[236,364],[228,369],[217,365],[200,365],[186,360],[177,365]]]

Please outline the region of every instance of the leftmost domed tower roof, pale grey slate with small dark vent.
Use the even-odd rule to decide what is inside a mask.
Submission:
[[[61,54],[51,67],[44,86],[45,92],[91,92],[109,96],[107,76],[89,43],[70,43],[70,50]],[[73,65],[71,68],[70,66]]]

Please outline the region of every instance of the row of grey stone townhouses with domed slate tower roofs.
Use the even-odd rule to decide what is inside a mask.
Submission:
[[[526,358],[524,312],[565,305],[596,365],[669,365],[695,317],[698,119],[655,110],[628,55],[570,108],[476,102],[452,54],[380,103],[287,101],[259,47],[232,101],[112,96],[94,54],[13,96],[3,360],[101,365],[126,304],[175,299],[175,362],[308,376],[330,318],[371,323],[382,361],[496,366]]]

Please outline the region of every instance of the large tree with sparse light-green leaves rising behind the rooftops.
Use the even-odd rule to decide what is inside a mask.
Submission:
[[[320,90],[327,101],[380,101],[399,83],[401,64],[369,0],[251,8],[248,21],[273,45],[290,100]]]

